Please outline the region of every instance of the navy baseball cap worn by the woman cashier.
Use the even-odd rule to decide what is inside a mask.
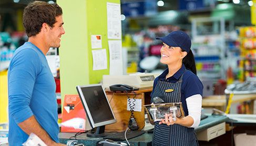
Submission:
[[[185,50],[187,53],[190,51],[191,39],[185,32],[181,30],[171,32],[165,37],[157,37],[156,39],[162,40],[163,43],[171,47],[180,47],[182,50]]]

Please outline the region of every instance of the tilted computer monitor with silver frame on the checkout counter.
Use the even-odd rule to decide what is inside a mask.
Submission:
[[[91,128],[97,128],[95,133],[87,133],[87,136],[104,137],[105,125],[115,123],[117,120],[103,86],[91,84],[77,86],[76,89],[86,112],[86,120],[89,121]]]

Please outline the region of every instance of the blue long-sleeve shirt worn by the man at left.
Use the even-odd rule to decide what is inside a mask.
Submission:
[[[31,116],[59,142],[56,85],[43,52],[32,43],[19,47],[8,69],[9,145],[22,145],[28,135],[18,127]]]

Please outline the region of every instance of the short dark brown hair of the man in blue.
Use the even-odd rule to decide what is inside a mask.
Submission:
[[[23,26],[25,27],[28,37],[37,35],[42,24],[46,23],[50,27],[54,27],[57,16],[62,15],[62,8],[56,3],[49,4],[47,2],[34,1],[29,3],[23,13]]]

